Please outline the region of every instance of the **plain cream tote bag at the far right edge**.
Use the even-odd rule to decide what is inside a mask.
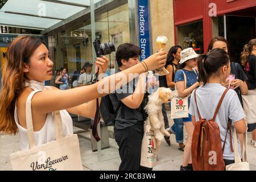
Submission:
[[[245,110],[246,122],[252,124],[256,122],[256,96],[243,96],[243,110]]]

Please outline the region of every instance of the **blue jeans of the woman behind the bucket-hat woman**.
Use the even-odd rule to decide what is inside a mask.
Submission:
[[[171,107],[171,102],[169,103],[169,106]],[[176,137],[176,142],[177,143],[183,143],[183,119],[182,118],[178,118],[178,119],[174,119],[174,125],[172,125],[172,127],[170,127],[170,131],[171,133],[175,134]]]

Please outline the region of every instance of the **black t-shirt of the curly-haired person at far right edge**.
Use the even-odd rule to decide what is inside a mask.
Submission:
[[[247,84],[249,90],[256,88],[256,56],[250,55],[247,61],[247,65],[244,68],[248,77]]]

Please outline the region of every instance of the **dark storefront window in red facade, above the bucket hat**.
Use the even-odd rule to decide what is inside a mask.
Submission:
[[[203,53],[203,21],[178,26],[177,43],[183,48],[192,47],[197,53]]]

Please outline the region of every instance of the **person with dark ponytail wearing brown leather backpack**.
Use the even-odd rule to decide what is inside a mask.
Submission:
[[[246,132],[245,113],[237,93],[221,84],[228,78],[231,69],[226,51],[215,48],[207,55],[199,56],[198,68],[203,86],[193,91],[189,107],[195,125],[193,168],[224,170],[226,165],[234,163],[233,137],[230,137],[233,129],[237,134]],[[241,155],[241,148],[238,147],[238,150]],[[216,160],[212,161],[211,157]]]

